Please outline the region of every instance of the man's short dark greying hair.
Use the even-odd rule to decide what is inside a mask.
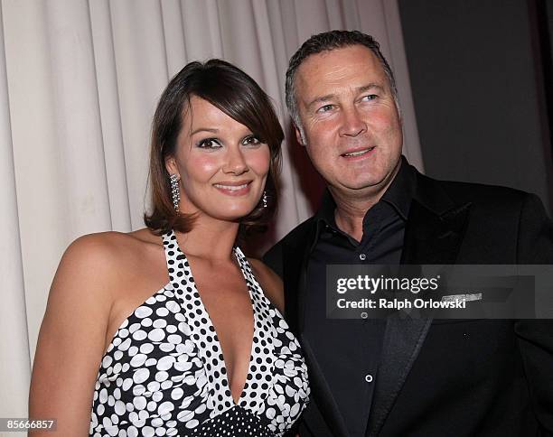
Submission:
[[[305,141],[304,129],[301,124],[299,112],[297,109],[297,100],[295,98],[295,72],[302,64],[302,62],[311,55],[321,53],[322,51],[333,51],[335,49],[342,49],[343,47],[349,47],[351,45],[362,45],[367,47],[380,61],[380,65],[386,74],[389,81],[389,88],[391,89],[392,97],[396,103],[396,107],[399,112],[398,105],[398,89],[396,88],[396,79],[394,79],[394,73],[389,68],[388,61],[382,55],[380,51],[380,44],[372,36],[359,31],[330,31],[313,35],[294,53],[294,56],[290,58],[288,63],[288,70],[286,70],[286,107],[295,126],[299,129],[302,138]]]

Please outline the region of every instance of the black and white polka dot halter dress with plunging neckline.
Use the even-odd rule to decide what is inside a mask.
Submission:
[[[294,335],[267,300],[248,260],[234,254],[253,304],[248,377],[235,404],[217,333],[173,231],[164,235],[170,283],[128,316],[102,358],[93,436],[280,436],[309,398]]]

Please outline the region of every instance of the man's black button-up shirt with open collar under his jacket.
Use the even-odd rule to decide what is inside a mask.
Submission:
[[[315,215],[317,232],[307,267],[304,336],[351,436],[365,434],[386,321],[327,319],[326,265],[399,264],[415,181],[402,159],[389,189],[365,214],[361,242],[336,226],[336,205],[328,191]]]

